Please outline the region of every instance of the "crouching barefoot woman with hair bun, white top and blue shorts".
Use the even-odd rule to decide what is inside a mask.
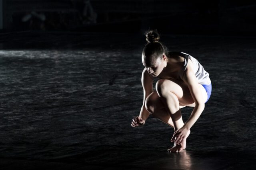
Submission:
[[[170,152],[180,152],[186,148],[186,138],[190,128],[204,110],[209,100],[212,84],[208,72],[191,55],[182,52],[168,52],[160,41],[157,31],[145,33],[148,42],[142,52],[142,86],[144,100],[140,116],[132,119],[132,127],[144,125],[150,114],[174,127]],[[153,91],[153,80],[156,91]],[[194,107],[188,121],[183,123],[180,109]]]

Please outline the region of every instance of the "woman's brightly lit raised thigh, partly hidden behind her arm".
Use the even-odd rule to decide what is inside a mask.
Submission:
[[[177,79],[161,79],[160,83],[162,83],[165,89],[170,90],[170,92],[174,93],[177,96],[180,103],[180,108],[184,106],[190,106],[190,107],[195,106],[194,99],[192,98],[190,90],[185,82]],[[199,83],[198,83],[198,87],[202,92],[201,93],[202,98],[204,98],[204,101],[206,101],[207,100],[206,90]]]

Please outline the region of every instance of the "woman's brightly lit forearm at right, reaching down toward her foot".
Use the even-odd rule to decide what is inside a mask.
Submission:
[[[190,129],[194,125],[194,123],[196,123],[197,119],[200,117],[203,110],[204,104],[195,106],[190,117],[188,118],[188,121],[186,121],[184,126]]]

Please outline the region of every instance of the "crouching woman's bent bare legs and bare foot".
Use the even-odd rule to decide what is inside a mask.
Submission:
[[[179,83],[161,79],[156,83],[156,91],[152,92],[146,99],[146,109],[154,117],[174,127],[175,131],[184,125],[180,108],[186,105],[193,106],[194,103],[188,88],[182,82]],[[176,93],[173,93],[171,90],[176,90]],[[184,92],[189,92],[189,94],[184,94]],[[180,104],[180,102],[183,102],[183,104]],[[190,131],[188,131],[187,136],[180,145],[174,144],[174,147],[168,149],[168,151],[180,152],[185,149],[186,138],[189,134]]]

